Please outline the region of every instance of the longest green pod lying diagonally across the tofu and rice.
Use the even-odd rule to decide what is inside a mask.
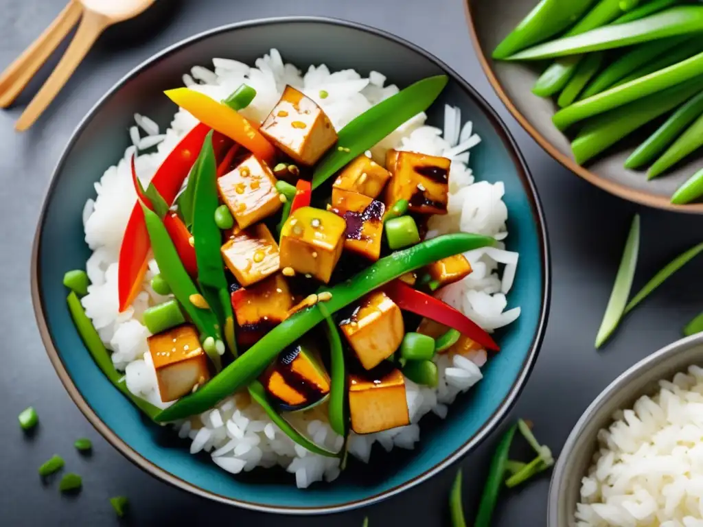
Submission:
[[[493,238],[486,236],[456,233],[438,236],[394,252],[335,287],[321,288],[320,292],[330,292],[332,295],[332,298],[325,301],[325,308],[330,314],[335,313],[364,294],[409,271],[454,254],[494,245],[494,242]],[[181,398],[161,412],[157,417],[158,421],[183,419],[212,408],[218,401],[256,379],[281,350],[290,346],[322,320],[323,313],[318,304],[291,315],[201,389]]]

